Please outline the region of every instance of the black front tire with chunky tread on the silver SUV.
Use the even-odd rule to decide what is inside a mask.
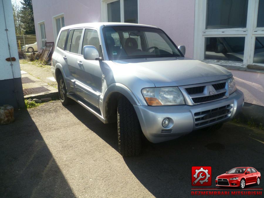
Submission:
[[[118,147],[122,156],[136,156],[141,151],[141,127],[133,105],[121,97],[117,105]]]

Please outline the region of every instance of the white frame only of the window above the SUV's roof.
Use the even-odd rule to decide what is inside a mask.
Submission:
[[[118,0],[101,0],[101,22],[107,22],[107,4]],[[139,6],[139,0],[138,0]],[[124,0],[120,0],[120,22],[124,23]],[[138,23],[139,23],[139,9],[138,9]]]

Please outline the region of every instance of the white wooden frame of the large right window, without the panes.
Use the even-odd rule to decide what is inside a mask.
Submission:
[[[264,36],[264,27],[257,28],[259,0],[248,1],[247,26],[246,28],[206,29],[207,0],[195,1],[194,15],[194,59],[207,63],[247,67],[248,65],[263,66],[264,64],[253,63],[255,37]],[[204,59],[206,37],[245,37],[245,49],[243,62],[209,60]]]

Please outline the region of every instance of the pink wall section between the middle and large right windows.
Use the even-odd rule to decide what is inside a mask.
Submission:
[[[193,57],[194,0],[140,0],[139,23],[163,29],[174,43],[186,46],[186,57]]]

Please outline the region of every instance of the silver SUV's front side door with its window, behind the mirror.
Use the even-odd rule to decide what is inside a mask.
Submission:
[[[83,47],[93,45],[102,56],[101,45],[99,42],[98,32],[92,28],[85,28],[80,56],[77,57],[77,68],[79,70],[79,83],[76,83],[76,92],[85,100],[89,101],[96,107],[99,107],[99,98],[102,87],[102,71],[98,60],[85,60],[83,58]]]

